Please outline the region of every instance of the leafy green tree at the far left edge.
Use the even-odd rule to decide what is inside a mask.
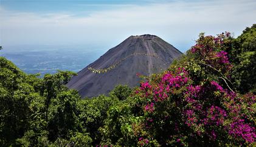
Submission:
[[[0,57],[0,144],[12,145],[24,136],[31,114],[29,105],[33,99],[33,87],[27,76],[12,62]]]

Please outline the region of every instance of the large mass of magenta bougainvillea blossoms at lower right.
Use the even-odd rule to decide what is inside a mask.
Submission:
[[[175,99],[176,105],[183,109],[182,121],[185,125],[195,131],[198,136],[206,134],[211,140],[218,139],[218,134],[222,132],[216,131],[214,128],[223,128],[228,132],[230,136],[237,139],[243,139],[246,142],[252,143],[256,140],[255,128],[245,123],[242,117],[247,116],[241,114],[241,100],[246,100],[247,103],[255,103],[255,96],[253,94],[246,94],[245,98],[240,98],[236,93],[226,90],[221,85],[212,80],[210,85],[187,85],[189,83],[189,76],[184,69],[178,69],[175,72],[168,71],[162,74],[159,82],[152,83],[145,82],[141,84],[140,92],[148,93],[147,98],[151,99],[147,105],[145,105],[145,111],[148,114],[153,114],[156,111],[156,103],[165,102],[170,97],[175,96],[175,90],[182,88],[181,99]],[[220,97],[209,97],[210,93],[219,91]],[[144,95],[145,96],[145,95]],[[214,96],[214,95],[212,95]],[[250,97],[250,98],[248,98]],[[213,100],[214,99],[214,100]],[[218,102],[223,99],[223,105],[209,105],[209,100],[212,102]],[[160,105],[159,105],[160,106]],[[170,119],[171,116],[165,116],[164,120]],[[229,123],[230,120],[232,123]],[[156,120],[157,121],[157,120]],[[148,129],[152,129],[153,119],[150,117],[147,119]],[[179,131],[181,128],[175,123],[175,130]],[[205,131],[201,129],[204,128]],[[143,141],[145,145],[147,141]]]

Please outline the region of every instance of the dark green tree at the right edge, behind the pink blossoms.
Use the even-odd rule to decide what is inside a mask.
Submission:
[[[226,50],[234,66],[232,82],[240,93],[256,94],[256,24],[247,27],[232,44],[232,48]]]

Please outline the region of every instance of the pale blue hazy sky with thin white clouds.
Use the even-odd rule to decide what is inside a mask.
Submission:
[[[254,23],[255,0],[0,0],[2,46],[114,47],[131,35],[155,34],[185,51],[200,32],[238,36]]]

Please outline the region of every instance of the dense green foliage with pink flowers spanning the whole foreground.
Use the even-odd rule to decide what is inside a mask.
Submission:
[[[81,99],[75,73],[28,75],[0,57],[1,146],[254,146],[256,25],[199,34],[167,71],[133,90]]]

